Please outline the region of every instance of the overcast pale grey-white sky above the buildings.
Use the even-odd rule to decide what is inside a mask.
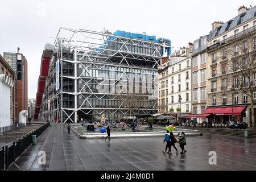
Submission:
[[[175,50],[207,35],[215,20],[236,16],[241,5],[255,0],[1,1],[0,53],[20,48],[28,61],[28,98],[35,98],[44,46],[60,27],[146,32],[171,39]]]

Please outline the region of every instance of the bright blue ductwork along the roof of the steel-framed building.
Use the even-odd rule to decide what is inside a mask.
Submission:
[[[171,46],[171,40],[170,39],[165,39],[165,38],[156,39],[155,36],[150,36],[150,35],[135,34],[135,33],[125,32],[125,31],[121,31],[121,30],[115,31],[112,35],[114,35],[114,36],[110,36],[110,38],[108,40],[104,41],[104,44],[108,45],[112,40],[115,39],[115,36],[122,36],[122,37],[129,38],[129,39],[144,40],[144,41],[147,41],[147,42],[166,43],[166,46]],[[96,51],[101,52],[102,49],[105,48],[105,47],[106,46],[100,46],[99,49],[96,49]],[[162,48],[162,56],[163,56],[164,52],[167,52],[167,55],[170,55],[171,54],[171,48],[170,47]]]

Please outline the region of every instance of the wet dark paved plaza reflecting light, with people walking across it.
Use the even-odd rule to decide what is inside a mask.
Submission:
[[[9,170],[256,170],[256,139],[203,134],[187,137],[185,155],[163,154],[164,136],[121,139],[80,139],[66,125],[49,126]],[[180,152],[180,147],[176,144]],[[38,164],[39,151],[46,164]],[[210,165],[209,151],[217,164]]]

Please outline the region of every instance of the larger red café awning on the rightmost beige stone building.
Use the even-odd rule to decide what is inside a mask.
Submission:
[[[241,115],[243,109],[246,106],[236,106],[233,107],[234,115]],[[232,115],[232,107],[216,107],[208,108],[204,111],[204,114],[216,114],[216,115]]]

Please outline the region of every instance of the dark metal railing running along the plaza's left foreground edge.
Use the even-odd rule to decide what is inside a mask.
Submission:
[[[8,169],[10,164],[13,163],[15,159],[32,144],[32,135],[36,135],[36,137],[38,137],[49,125],[50,122],[47,122],[38,129],[35,129],[13,142],[2,146],[0,148],[0,171]]]

